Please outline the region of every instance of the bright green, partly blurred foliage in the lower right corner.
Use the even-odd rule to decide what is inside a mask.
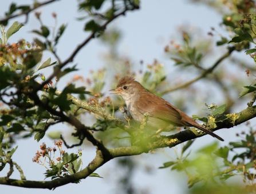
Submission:
[[[220,193],[226,191],[225,187],[229,187],[232,193],[255,192],[255,133],[250,127],[249,134],[237,134],[241,136],[239,142],[230,142],[229,146],[224,147],[219,147],[217,143],[207,145],[197,151],[196,157],[192,157],[191,152],[185,154],[193,143],[188,141],[176,160],[168,161],[160,168],[171,167],[172,171],[185,172],[188,176],[188,187],[199,184],[221,190]],[[241,148],[244,151],[241,152]],[[240,180],[234,177],[239,177]],[[226,183],[227,179],[233,179],[232,183]],[[237,188],[234,181],[246,187]],[[195,187],[199,188],[199,185]]]

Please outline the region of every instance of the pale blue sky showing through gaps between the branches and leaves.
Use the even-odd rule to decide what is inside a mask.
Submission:
[[[14,1],[15,2],[15,1]],[[19,3],[19,1],[16,1]],[[22,3],[31,3],[31,1],[22,1]],[[1,3],[2,10],[9,9],[9,2]],[[56,5],[60,5],[58,9],[56,9]],[[64,36],[62,37],[62,41],[58,47],[58,53],[61,58],[65,59],[65,56],[70,54],[70,51],[80,43],[81,39],[85,37],[85,33],[82,31],[83,25],[81,22],[77,21],[76,18],[81,17],[80,14],[77,13],[77,4],[75,2],[70,1],[61,1],[60,3],[53,3],[52,5],[48,5],[46,7],[42,7],[37,11],[42,11],[41,18],[43,21],[52,21],[52,13],[57,13],[58,23],[67,23],[68,28],[65,31]],[[24,21],[24,17],[20,17],[18,19],[19,22]],[[166,46],[166,43],[170,42],[173,39],[179,39],[179,35],[177,35],[176,30],[180,27],[184,27],[185,29],[195,30],[202,29],[200,34],[204,37],[207,37],[207,32],[210,31],[210,27],[214,26],[216,29],[220,30],[219,23],[222,21],[222,18],[219,17],[218,13],[208,9],[208,7],[204,5],[196,5],[192,4],[189,1],[141,1],[141,9],[135,11],[133,13],[128,13],[125,17],[121,17],[117,19],[117,21],[113,22],[110,28],[116,27],[122,33],[122,39],[117,47],[117,50],[120,56],[127,57],[132,60],[134,63],[134,69],[138,70],[141,68],[140,60],[143,60],[145,64],[152,63],[154,59],[159,60],[164,64],[167,70],[168,79],[171,81],[172,75],[176,74],[178,67],[174,67],[169,57],[164,54],[163,48]],[[9,25],[14,21],[10,20]],[[49,24],[48,23],[48,24]],[[182,25],[181,25],[182,24]],[[52,23],[54,26],[54,23]],[[8,27],[8,26],[7,26]],[[21,38],[25,38],[27,41],[32,41],[34,34],[31,33],[31,30],[38,29],[39,23],[33,17],[30,17],[29,23],[22,27],[19,30],[19,33],[14,34],[11,37],[12,40],[18,40]],[[176,35],[174,35],[176,34]],[[218,39],[218,38],[217,38]],[[65,41],[64,41],[65,40]],[[225,48],[223,47],[223,51]],[[66,83],[68,83],[74,75],[80,74],[85,78],[89,76],[90,71],[96,71],[99,68],[104,67],[104,56],[108,52],[108,47],[104,46],[102,42],[99,40],[94,40],[89,43],[89,46],[82,48],[80,54],[78,54],[73,62],[73,64],[78,63],[79,72],[74,72],[65,77]],[[214,52],[214,58],[216,56],[220,56],[222,52]],[[235,53],[237,57],[243,56],[245,58],[245,54]],[[44,60],[48,59],[49,56],[44,56]],[[212,56],[213,58],[213,56]],[[43,60],[43,61],[44,61]],[[207,58],[208,62],[211,61],[211,56]],[[250,60],[250,57],[244,59]],[[53,60],[52,60],[53,61]],[[206,62],[207,63],[207,62]],[[228,62],[225,62],[228,63]],[[210,63],[211,64],[211,63]],[[144,67],[145,68],[145,67]],[[49,68],[50,69],[50,68]],[[50,74],[47,70],[43,70],[42,73],[45,75]],[[232,68],[230,69],[232,71]],[[184,74],[180,75],[181,78],[190,80],[194,75]],[[243,76],[243,77],[242,77]],[[243,79],[246,78],[246,74],[241,73],[241,77]],[[111,79],[111,75],[109,75],[109,79]],[[201,87],[203,81],[199,81],[195,84],[196,87]],[[64,87],[63,85],[62,87]],[[104,90],[107,92],[111,89],[111,85],[106,85]],[[203,87],[203,86],[202,86]],[[211,87],[210,84],[208,87]],[[203,88],[202,88],[203,90]],[[204,97],[202,102],[207,103],[222,103],[222,96],[218,96],[218,94],[214,91],[217,91],[218,88],[212,86],[212,94],[207,94],[208,96]],[[172,98],[175,99],[175,95],[179,94],[182,91],[172,92]],[[194,95],[194,94],[193,94]],[[194,95],[195,98],[197,95]],[[209,97],[210,96],[210,97]],[[170,98],[170,96],[166,96],[166,98]],[[207,101],[206,101],[207,100]],[[235,107],[237,110],[233,110],[233,112],[242,110],[246,107],[246,104],[243,107]],[[204,107],[198,107],[197,110],[203,109]],[[197,114],[198,112],[194,112],[193,108],[187,109],[187,114]],[[242,125],[243,126],[243,125]],[[61,124],[58,126],[59,128],[63,128]],[[240,127],[240,126],[239,126]],[[235,140],[237,137],[235,134],[239,132],[239,127],[235,127],[229,130],[220,130],[216,132],[219,136],[222,136],[226,142],[219,143],[220,145],[225,145],[230,140]],[[57,128],[57,127],[56,127]],[[66,130],[68,131],[68,127]],[[64,136],[68,137],[69,133],[64,133]],[[200,145],[210,144],[214,139],[211,136],[204,136],[200,138],[200,141],[195,141],[192,149],[199,149]],[[52,146],[52,139],[46,138],[44,142],[48,146]],[[40,142],[41,143],[41,142]],[[19,140],[19,148],[17,149],[17,153],[13,156],[15,161],[20,161],[19,165],[23,168],[26,174],[26,178],[28,180],[42,180],[44,179],[43,173],[45,172],[42,167],[38,166],[36,163],[32,163],[29,160],[33,157],[34,153],[38,149],[40,143],[37,143],[33,139],[25,139]],[[174,156],[174,149],[164,149],[165,152],[170,156]],[[77,149],[68,150],[69,152],[77,152]],[[168,171],[157,169],[160,167],[164,161],[169,161],[165,154],[161,153],[162,151],[157,151],[153,154],[143,154],[135,157],[135,161],[139,163],[138,168],[136,168],[133,173],[132,183],[135,184],[135,187],[140,188],[141,191],[147,193],[147,188],[151,190],[152,193],[186,193],[187,192],[187,180],[183,179],[180,176],[180,173],[175,171]],[[88,164],[92,156],[94,155],[94,149],[90,147],[84,148],[83,152],[83,162],[84,164]],[[26,160],[25,160],[25,159]],[[63,187],[57,188],[53,192],[67,192],[67,191],[76,191],[76,192],[87,192],[87,193],[113,193],[114,189],[118,187],[117,180],[124,173],[128,167],[123,166],[123,171],[117,172],[115,168],[116,162],[114,160],[104,165],[104,168],[98,169],[96,172],[99,173],[104,179],[97,179],[94,177],[89,177],[86,181],[82,181],[80,183],[80,187],[77,187],[75,184],[65,185]],[[108,169],[108,171],[106,170]],[[109,170],[109,169],[112,169]],[[118,168],[119,169],[119,168]],[[145,173],[145,171],[147,173]],[[1,173],[5,174],[6,171],[2,171]],[[35,174],[37,176],[35,176]],[[14,178],[18,178],[18,172],[15,171],[12,175]],[[36,178],[35,178],[36,177]],[[175,179],[174,179],[175,177]],[[115,181],[114,181],[115,180]],[[81,187],[82,184],[82,187]],[[100,185],[100,187],[99,187]],[[80,189],[80,191],[78,191]],[[45,193],[52,191],[45,191],[42,189],[25,189],[25,188],[10,188],[5,185],[1,185],[1,192],[26,192],[26,193]]]

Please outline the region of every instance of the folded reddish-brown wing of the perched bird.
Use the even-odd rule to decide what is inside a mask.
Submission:
[[[182,116],[175,107],[172,107],[170,103],[161,99],[160,97],[157,98],[156,102],[152,99],[155,98],[147,98],[137,101],[136,105],[141,114],[145,114],[146,112],[148,112],[150,116],[166,120],[170,123],[174,123],[176,126],[184,125],[181,120]]]

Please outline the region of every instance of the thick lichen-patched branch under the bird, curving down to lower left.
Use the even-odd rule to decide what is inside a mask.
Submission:
[[[71,96],[71,95],[70,95]],[[73,97],[74,98],[74,97]],[[78,99],[77,99],[78,100]],[[75,101],[73,101],[74,103]],[[85,103],[86,104],[86,103]],[[81,104],[82,105],[82,104]],[[90,111],[96,110],[92,108]],[[100,111],[97,111],[99,114]],[[219,130],[220,128],[231,128],[237,126],[238,124],[244,123],[247,120],[256,117],[256,106],[248,107],[245,110],[238,112],[236,114],[230,114],[229,119],[223,122],[218,122],[212,131]],[[108,118],[111,118],[110,116]],[[73,183],[74,181],[85,179],[101,165],[107,163],[109,160],[115,157],[121,156],[133,156],[140,155],[141,153],[147,153],[152,149],[164,148],[164,147],[174,147],[180,143],[186,142],[187,140],[195,139],[206,134],[199,133],[198,130],[191,129],[179,132],[175,135],[170,136],[153,136],[148,139],[141,139],[137,146],[131,147],[121,147],[108,149],[109,155],[106,155],[101,151],[97,150],[97,155],[93,161],[82,171],[74,173],[73,175],[66,176],[62,179],[55,179],[52,181],[27,181],[27,180],[14,180],[6,179],[5,177],[0,178],[0,184],[13,185],[17,187],[25,188],[48,188],[52,189],[54,187],[60,187],[68,183]]]

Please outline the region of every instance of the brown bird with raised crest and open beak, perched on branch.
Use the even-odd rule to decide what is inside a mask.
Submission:
[[[200,126],[194,119],[163,98],[145,90],[132,76],[121,78],[116,89],[113,90],[115,92],[112,94],[118,94],[123,98],[128,111],[136,122],[141,123],[144,119],[143,114],[148,113],[147,125],[158,131],[163,131],[170,126],[195,127],[220,141],[224,141],[220,136]]]

